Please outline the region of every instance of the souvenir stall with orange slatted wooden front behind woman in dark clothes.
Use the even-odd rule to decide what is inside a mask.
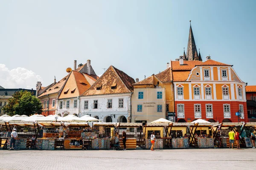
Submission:
[[[137,140],[142,139],[142,123],[117,123],[116,129],[119,133],[120,149],[124,149],[122,132],[126,133],[126,149],[136,149]]]

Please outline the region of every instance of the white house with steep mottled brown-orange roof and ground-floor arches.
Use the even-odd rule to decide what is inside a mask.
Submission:
[[[134,79],[112,65],[80,96],[80,116],[104,122],[130,122]]]

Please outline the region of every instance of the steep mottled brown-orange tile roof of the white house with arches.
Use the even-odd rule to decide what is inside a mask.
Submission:
[[[134,83],[135,81],[132,77],[111,65],[108,70],[105,71],[105,73],[81,96],[131,93],[133,91],[132,84]]]

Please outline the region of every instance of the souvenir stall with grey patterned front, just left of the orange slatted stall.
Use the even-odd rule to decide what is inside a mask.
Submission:
[[[112,140],[115,134],[116,123],[105,123],[105,122],[96,122],[92,126],[92,134],[94,136],[91,143],[92,149],[110,149]],[[119,135],[120,136],[120,135]]]

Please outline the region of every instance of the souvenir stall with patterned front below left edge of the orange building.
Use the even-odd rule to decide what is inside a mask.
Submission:
[[[172,123],[169,134],[172,138],[172,148],[189,148],[189,123]],[[187,136],[185,136],[185,134]]]

